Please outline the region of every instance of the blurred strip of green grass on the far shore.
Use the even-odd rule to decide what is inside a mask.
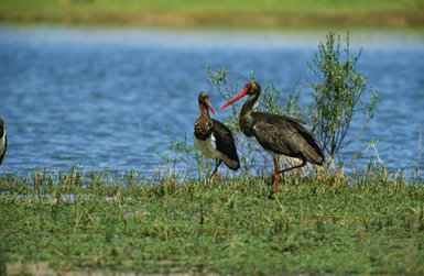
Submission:
[[[0,21],[246,27],[422,27],[422,0],[1,0]]]

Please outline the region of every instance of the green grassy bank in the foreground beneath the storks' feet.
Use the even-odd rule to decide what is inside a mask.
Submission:
[[[3,269],[424,274],[424,184],[369,168],[140,178],[35,172],[0,177]],[[72,195],[72,198],[70,196]],[[1,267],[1,265],[0,265]]]

